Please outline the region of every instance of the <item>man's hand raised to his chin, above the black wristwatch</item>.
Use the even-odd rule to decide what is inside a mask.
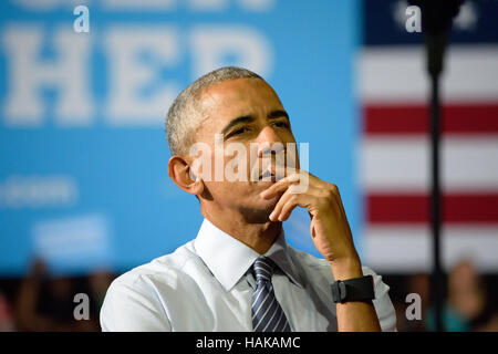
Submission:
[[[299,181],[303,178],[308,178],[305,190],[302,186],[298,188]],[[352,270],[349,275],[355,277],[352,273],[359,273],[359,269],[361,273],[360,258],[335,185],[323,181],[308,171],[294,170],[271,185],[260,196],[270,199],[279,194],[281,197],[270,215],[271,221],[286,221],[297,206],[307,208],[311,218],[310,233],[319,252],[332,267],[339,263],[347,264]]]

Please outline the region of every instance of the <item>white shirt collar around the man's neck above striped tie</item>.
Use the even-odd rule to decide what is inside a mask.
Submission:
[[[218,229],[206,218],[197,233],[194,247],[226,291],[234,288],[260,256],[247,244]],[[301,278],[287,251],[283,228],[264,256],[273,260],[291,281],[302,287]]]

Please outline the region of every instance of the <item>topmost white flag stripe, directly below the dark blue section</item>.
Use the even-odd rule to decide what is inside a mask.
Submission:
[[[363,103],[426,102],[429,86],[424,55],[421,45],[364,49],[357,56]],[[452,45],[446,59],[443,98],[498,98],[498,45]]]

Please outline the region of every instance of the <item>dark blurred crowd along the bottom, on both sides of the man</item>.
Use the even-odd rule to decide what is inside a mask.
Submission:
[[[11,331],[101,331],[98,313],[105,292],[116,274],[102,269],[84,277],[52,277],[43,261],[35,260],[22,279],[0,279],[0,332]],[[446,304],[443,322],[449,332],[498,332],[498,277],[479,274],[473,262],[463,260],[447,274]],[[391,287],[396,310],[397,331],[430,332],[435,330],[430,303],[430,275],[384,275]],[[79,302],[74,295],[90,299],[87,320],[76,320]],[[421,317],[407,315],[412,301],[419,295]],[[77,310],[77,309],[76,309]]]

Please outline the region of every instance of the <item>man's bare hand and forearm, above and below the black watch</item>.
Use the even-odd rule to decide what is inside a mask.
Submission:
[[[303,178],[308,178],[308,188],[298,185]],[[363,275],[335,185],[307,171],[295,170],[261,192],[264,199],[279,195],[280,199],[270,215],[271,221],[286,221],[297,206],[307,208],[311,217],[310,233],[314,246],[329,261],[334,279],[344,280]],[[336,314],[340,332],[381,331],[372,302],[338,303]]]

